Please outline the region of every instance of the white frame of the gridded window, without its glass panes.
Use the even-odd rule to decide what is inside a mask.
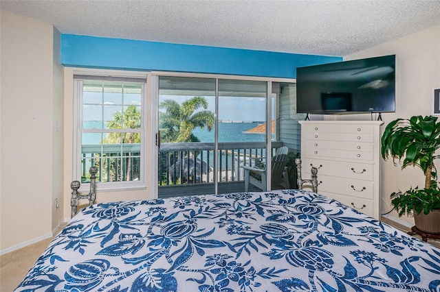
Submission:
[[[146,108],[147,108],[147,75],[107,75],[102,73],[82,73],[74,72],[74,180],[81,181],[82,169],[82,134],[90,132],[99,132],[100,130],[85,130],[83,128],[83,81],[95,80],[102,82],[126,82],[137,83],[141,85],[141,127],[139,129],[116,130],[115,132],[140,132],[140,176],[139,180],[123,182],[97,182],[96,189],[99,191],[130,191],[146,188]],[[80,191],[87,191],[90,188],[89,182],[82,182]]]

